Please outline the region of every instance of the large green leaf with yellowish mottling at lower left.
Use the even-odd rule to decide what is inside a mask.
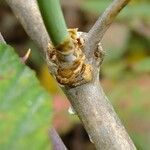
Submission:
[[[0,44],[0,149],[50,149],[50,100],[14,49]]]

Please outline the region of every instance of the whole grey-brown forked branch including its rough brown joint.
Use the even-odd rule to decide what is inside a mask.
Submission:
[[[81,38],[84,34],[78,38],[79,32],[77,31],[75,32],[76,34],[70,33],[72,39],[74,39],[73,37],[75,36],[73,42],[77,44],[73,44],[75,47],[73,46],[74,48],[70,49],[68,54],[65,51],[61,52],[60,47],[57,47],[57,45],[61,44],[61,42],[68,37],[67,32],[62,32],[61,30],[62,27],[66,28],[64,22],[58,24],[60,20],[60,18],[57,18],[58,15],[56,16],[58,11],[53,14],[56,19],[52,20],[52,29],[55,29],[52,31],[57,31],[60,36],[60,38],[58,38],[56,34],[59,40],[53,41],[56,50],[51,44],[48,45],[50,38],[37,7],[37,0],[6,1],[30,37],[44,53],[46,52],[50,72],[58,80],[60,86],[63,85],[62,90],[83,122],[95,147],[98,150],[135,150],[136,147],[105,96],[98,78],[98,66],[103,60],[103,52],[98,43],[101,41],[104,33],[119,11],[123,9],[130,0],[114,0],[86,34],[85,38]],[[40,3],[43,1],[44,0],[39,0]],[[47,5],[47,3],[45,3],[47,12],[50,14],[49,17],[45,17],[46,21],[48,20],[47,18],[52,18],[50,11],[54,11],[54,4],[58,4],[56,0],[51,0],[50,2],[52,2],[53,5]],[[48,6],[51,7],[51,9],[49,9]],[[62,19],[62,14],[59,13],[59,15]],[[58,30],[56,30],[56,24],[59,25]],[[51,29],[51,27],[49,27],[49,29]],[[82,43],[81,39],[85,39],[85,43]],[[77,80],[77,82],[75,82],[75,80]]]

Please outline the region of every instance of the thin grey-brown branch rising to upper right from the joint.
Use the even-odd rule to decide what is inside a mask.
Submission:
[[[130,0],[114,0],[112,4],[104,11],[102,16],[98,18],[94,26],[89,31],[86,39],[85,51],[89,58],[93,55],[98,43],[103,38],[105,32],[114,21],[115,17],[129,3],[129,1]]]

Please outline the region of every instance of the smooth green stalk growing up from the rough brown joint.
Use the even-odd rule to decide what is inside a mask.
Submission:
[[[55,47],[69,40],[59,0],[37,0],[47,32]]]

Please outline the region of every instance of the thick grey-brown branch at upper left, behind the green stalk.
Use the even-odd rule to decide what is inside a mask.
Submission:
[[[6,0],[27,34],[43,50],[47,50],[50,38],[44,26],[36,0]]]

